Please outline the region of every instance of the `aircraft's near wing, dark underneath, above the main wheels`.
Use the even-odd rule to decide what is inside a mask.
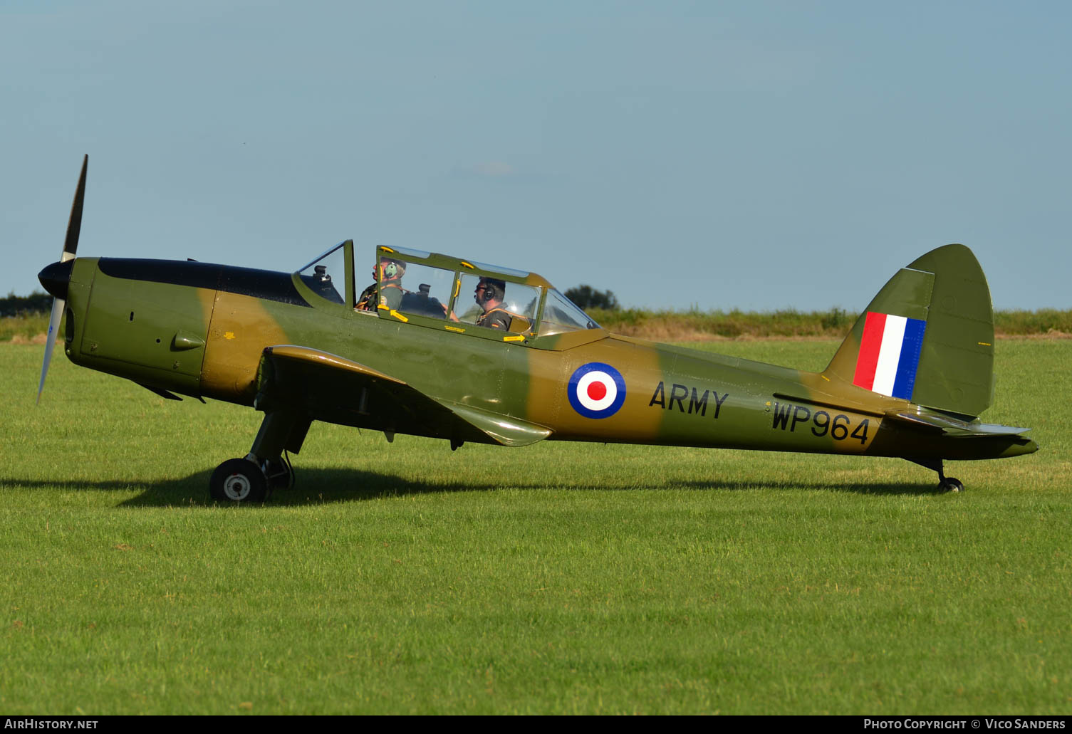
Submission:
[[[502,446],[551,435],[542,425],[432,398],[364,364],[303,346],[265,348],[256,385],[258,410],[279,406],[328,423]]]

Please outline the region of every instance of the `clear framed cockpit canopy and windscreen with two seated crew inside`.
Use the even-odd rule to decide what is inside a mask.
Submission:
[[[544,336],[600,329],[536,273],[438,253],[377,246],[372,284],[361,291],[352,240],[296,274],[315,296],[355,314],[458,333],[539,346]]]

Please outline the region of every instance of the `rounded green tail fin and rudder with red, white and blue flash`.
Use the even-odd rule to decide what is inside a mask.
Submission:
[[[979,260],[947,244],[900,269],[823,376],[974,418],[994,393],[994,309]]]

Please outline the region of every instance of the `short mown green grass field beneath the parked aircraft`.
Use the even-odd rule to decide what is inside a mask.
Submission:
[[[836,342],[729,342],[822,368]],[[954,463],[314,424],[298,486],[207,501],[259,414],[0,345],[5,714],[1070,714],[1072,342],[997,345]]]

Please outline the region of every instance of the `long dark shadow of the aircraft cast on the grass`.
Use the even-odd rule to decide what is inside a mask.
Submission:
[[[81,490],[95,490],[101,492],[129,492],[132,489],[142,489],[142,493],[130,499],[124,499],[118,504],[119,507],[176,507],[176,506],[205,506],[224,505],[208,496],[205,484],[209,473],[198,471],[182,479],[167,479],[157,482],[132,482],[122,480],[107,481],[85,481],[85,480],[57,480],[43,482],[40,480],[18,480],[10,479],[4,483],[18,484],[33,489],[56,489],[57,485],[64,489],[77,488]],[[500,489],[512,488],[522,490],[553,490],[557,486],[544,482],[441,482],[421,481],[408,477],[400,477],[393,474],[378,474],[375,471],[362,471],[359,469],[298,469],[298,484],[294,488],[277,489],[271,494],[272,506],[297,506],[326,503],[361,501],[368,499],[382,499],[388,497],[402,497],[419,494],[434,494],[447,492],[491,492]],[[570,488],[578,492],[620,492],[625,490],[636,490],[631,482],[610,481],[601,484],[585,484]],[[925,484],[905,484],[902,482],[832,482],[832,481],[795,481],[793,483],[773,481],[676,481],[669,479],[662,484],[653,484],[646,488],[647,491],[658,492],[662,490],[696,490],[696,491],[726,491],[733,492],[740,490],[786,490],[786,491],[808,491],[823,490],[828,492],[847,492],[853,494],[874,495],[905,495],[905,494],[942,494],[937,485],[929,482]]]

